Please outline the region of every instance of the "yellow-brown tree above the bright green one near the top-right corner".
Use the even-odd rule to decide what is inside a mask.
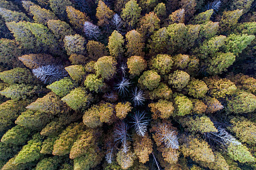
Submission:
[[[243,10],[224,11],[219,22],[220,31],[230,31],[237,23],[238,19],[242,16]]]

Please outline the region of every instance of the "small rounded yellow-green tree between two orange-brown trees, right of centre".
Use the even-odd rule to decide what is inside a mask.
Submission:
[[[175,116],[185,116],[191,113],[193,103],[186,96],[177,96],[175,98]]]

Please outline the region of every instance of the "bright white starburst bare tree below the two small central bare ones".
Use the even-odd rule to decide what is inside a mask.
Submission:
[[[147,132],[147,125],[149,123],[149,120],[146,119],[144,112],[136,112],[133,117],[133,121],[131,123],[134,123],[134,127],[136,130],[136,133],[139,136],[145,136],[145,133]]]

